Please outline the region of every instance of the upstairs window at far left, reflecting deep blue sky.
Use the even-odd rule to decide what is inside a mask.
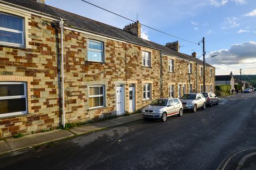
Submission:
[[[23,18],[0,13],[0,44],[23,47]]]

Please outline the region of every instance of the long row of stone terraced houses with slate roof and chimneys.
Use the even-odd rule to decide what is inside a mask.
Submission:
[[[180,53],[178,41],[144,40],[140,28],[139,22],[115,28],[44,1],[1,0],[0,137],[122,115],[159,97],[202,91],[196,54]],[[206,64],[207,91],[214,91],[214,74]]]

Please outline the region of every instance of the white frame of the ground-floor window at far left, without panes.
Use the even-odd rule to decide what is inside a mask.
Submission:
[[[6,116],[15,116],[15,115],[23,115],[28,113],[28,97],[27,97],[27,82],[0,82],[0,84],[24,84],[24,95],[18,95],[18,96],[2,96],[0,97],[0,100],[6,100],[6,99],[26,99],[26,111],[22,112],[12,112],[12,113],[4,113],[0,114],[0,117],[6,117]]]

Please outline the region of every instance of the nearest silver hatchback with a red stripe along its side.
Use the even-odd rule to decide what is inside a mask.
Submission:
[[[156,99],[150,105],[142,108],[144,118],[157,118],[163,122],[172,115],[182,116],[183,107],[178,98],[161,98]]]

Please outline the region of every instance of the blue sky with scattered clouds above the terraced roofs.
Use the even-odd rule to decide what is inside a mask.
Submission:
[[[195,43],[205,37],[206,62],[217,74],[256,74],[256,1],[255,0],[87,0],[95,5],[138,20],[150,27]],[[46,0],[46,4],[118,28],[131,23],[80,0]],[[180,52],[197,56],[202,47],[142,27],[143,38],[164,45],[178,40]],[[206,57],[207,57],[206,56]]]

